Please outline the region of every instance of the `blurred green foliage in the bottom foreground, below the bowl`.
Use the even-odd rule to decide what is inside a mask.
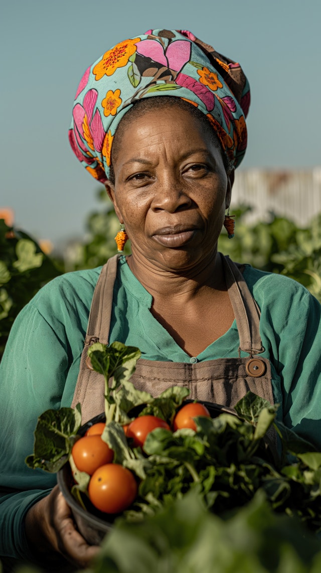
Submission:
[[[263,492],[221,519],[194,490],[142,523],[119,520],[88,573],[318,573],[320,567],[319,541],[272,512]]]

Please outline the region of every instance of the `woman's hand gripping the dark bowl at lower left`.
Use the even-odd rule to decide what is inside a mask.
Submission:
[[[85,568],[99,551],[75,529],[71,509],[57,485],[29,509],[25,531],[34,556],[47,563],[64,557],[76,567]]]

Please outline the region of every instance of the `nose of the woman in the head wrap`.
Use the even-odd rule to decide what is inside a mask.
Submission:
[[[177,178],[165,177],[158,181],[156,193],[152,200],[152,209],[175,213],[177,210],[188,209],[191,198],[187,194],[183,183]]]

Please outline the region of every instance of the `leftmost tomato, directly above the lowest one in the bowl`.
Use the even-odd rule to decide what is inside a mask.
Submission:
[[[72,457],[77,469],[91,476],[99,466],[112,462],[113,451],[100,435],[84,435],[73,445]]]

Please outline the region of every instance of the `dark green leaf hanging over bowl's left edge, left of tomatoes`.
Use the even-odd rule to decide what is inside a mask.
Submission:
[[[34,431],[33,454],[26,458],[29,468],[58,472],[69,458],[80,425],[80,405],[75,410],[61,408],[41,414]]]

